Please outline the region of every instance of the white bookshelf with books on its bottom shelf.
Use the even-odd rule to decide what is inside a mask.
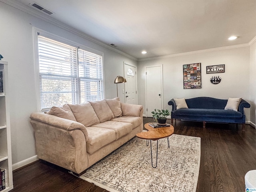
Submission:
[[[4,92],[0,92],[0,167],[7,169],[5,175],[7,188],[1,192],[8,192],[13,189],[8,62],[0,60],[0,71],[3,72],[4,90]]]

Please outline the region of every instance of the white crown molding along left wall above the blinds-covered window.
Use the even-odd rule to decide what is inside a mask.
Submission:
[[[74,29],[74,28],[72,28],[72,27],[70,27],[70,26],[68,26],[68,25],[66,25],[66,24],[64,24],[62,22],[59,22],[58,20],[55,20],[55,19],[51,18],[50,16],[47,16],[47,15],[45,15],[43,13],[40,13],[40,12],[38,12],[38,11],[32,9],[32,8],[29,8],[28,6],[26,6],[26,5],[24,5],[24,4],[20,3],[20,2],[17,2],[15,0],[0,0],[0,1],[4,2],[4,3],[6,3],[6,4],[8,4],[8,5],[10,5],[10,6],[14,7],[14,8],[17,8],[17,9],[23,11],[23,12],[26,12],[26,13],[32,15],[32,16],[40,18],[40,19],[42,19],[42,20],[44,20],[44,21],[46,21],[46,22],[48,22],[50,24],[53,24],[53,25],[55,25],[55,26],[57,26],[59,28],[62,28],[64,30],[68,31],[68,32],[71,32],[71,33],[73,33],[73,34],[75,34],[77,36],[80,36],[80,37],[82,37],[82,38],[84,38],[86,40],[94,42],[95,44],[98,44],[98,45],[103,46],[105,48],[108,48],[108,49],[110,49],[110,50],[112,50],[114,52],[122,54],[122,55],[124,55],[124,56],[126,56],[126,57],[128,57],[128,58],[130,58],[132,60],[138,61],[137,58],[135,58],[135,57],[133,57],[133,56],[131,56],[129,54],[126,54],[125,52],[122,52],[122,51],[120,51],[120,50],[118,50],[118,49],[116,49],[116,48],[114,48],[114,47],[112,47],[112,46],[110,46],[110,45],[108,45],[108,44],[106,44],[104,42],[101,42],[100,40],[97,40],[96,38],[93,38],[93,37],[91,37],[91,36],[89,36],[89,35],[87,35],[87,34],[85,34],[83,32],[80,32],[79,30],[76,30],[76,29]]]

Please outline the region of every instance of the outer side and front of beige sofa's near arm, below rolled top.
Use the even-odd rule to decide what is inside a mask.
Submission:
[[[80,174],[88,168],[84,134],[79,129],[66,130],[34,119],[36,152],[39,159]]]

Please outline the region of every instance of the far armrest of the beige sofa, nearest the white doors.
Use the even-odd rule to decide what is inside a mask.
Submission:
[[[128,103],[121,103],[122,116],[142,117],[143,106]]]

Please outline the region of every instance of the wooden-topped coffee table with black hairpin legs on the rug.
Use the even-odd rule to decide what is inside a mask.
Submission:
[[[174,133],[174,127],[172,125],[168,127],[159,127],[159,128],[153,128],[149,125],[149,123],[144,124],[144,128],[148,130],[147,132],[140,132],[137,133],[136,136],[141,139],[147,140],[147,146],[148,146],[148,140],[150,140],[150,150],[151,150],[151,164],[153,168],[156,168],[157,166],[157,154],[158,154],[158,140],[162,138],[167,137],[167,143],[168,147],[170,148],[169,144],[169,136],[171,136]],[[157,140],[157,147],[156,147],[156,166],[153,166],[153,160],[152,160],[152,144],[151,140],[155,141]]]

